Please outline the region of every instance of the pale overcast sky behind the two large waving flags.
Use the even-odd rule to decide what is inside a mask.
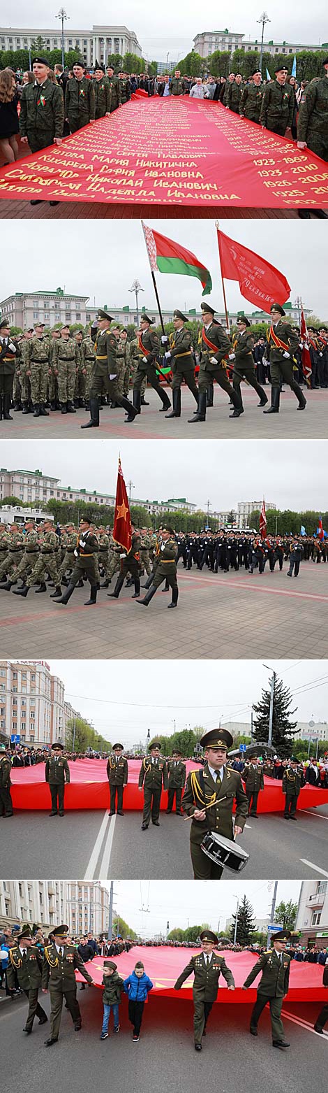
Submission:
[[[211,304],[216,310],[222,310],[215,221],[151,221],[150,218],[146,223],[187,247],[209,269]],[[291,286],[292,303],[300,296],[312,313],[323,320],[328,318],[326,247],[319,222],[226,220],[221,228],[284,274]],[[15,292],[53,292],[61,287],[73,295],[88,296],[92,305],[107,304],[109,310],[126,304],[134,309],[135,296],[129,290],[137,278],[144,289],[139,307],[145,305],[151,312],[157,306],[139,221],[105,221],[97,237],[93,221],[84,222],[83,233],[74,221],[70,221],[69,228],[64,221],[56,224],[45,221],[41,259],[35,246],[34,223],[3,221],[1,246],[5,266],[1,263],[0,269],[0,302]],[[199,308],[202,285],[197,279],[157,273],[157,286],[163,308]],[[229,310],[255,309],[241,296],[236,281],[226,281],[226,291]]]

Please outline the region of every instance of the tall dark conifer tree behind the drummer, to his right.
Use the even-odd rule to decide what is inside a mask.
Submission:
[[[295,709],[291,709],[292,696],[289,687],[274,672],[274,710],[272,710],[272,745],[281,759],[287,759],[292,751],[293,738],[296,732],[296,721],[291,718]],[[268,741],[270,689],[263,689],[262,700],[253,705],[255,714],[253,739],[255,743]]]

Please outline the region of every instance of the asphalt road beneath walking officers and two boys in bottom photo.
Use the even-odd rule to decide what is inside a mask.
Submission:
[[[328,1035],[313,1030],[316,1006],[284,1006],[284,1031],[290,1048],[271,1046],[269,1014],[266,1011],[255,1041],[248,1034],[251,1006],[215,1006],[208,1022],[203,1051],[193,1046],[191,1001],[150,997],[145,1008],[142,1035],[133,1044],[124,999],[120,1010],[121,1030],[100,1043],[101,990],[77,992],[83,1029],[75,1033],[63,1010],[58,1044],[45,1048],[45,1030],[36,1022],[32,1036],[22,1029],[26,1001],[0,1003],[2,1033],[2,1093],[84,1093],[89,1089],[112,1088],[131,1093],[167,1093],[172,1089],[214,1090],[220,1093],[321,1093],[327,1083]],[[42,996],[49,1012],[49,996]],[[217,1076],[217,1077],[216,1077]]]

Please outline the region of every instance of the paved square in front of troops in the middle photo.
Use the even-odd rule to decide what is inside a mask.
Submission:
[[[328,653],[327,577],[328,565],[313,562],[301,564],[296,580],[287,578],[287,564],[282,573],[262,576],[187,573],[179,565],[179,604],[169,615],[170,593],[161,588],[148,608],[131,599],[131,588],[119,600],[100,590],[94,608],[84,607],[88,584],[66,607],[34,588],[26,599],[0,590],[2,647],[19,659],[321,659]]]

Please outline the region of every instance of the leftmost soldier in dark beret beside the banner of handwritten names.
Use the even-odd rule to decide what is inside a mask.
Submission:
[[[61,144],[64,103],[61,87],[49,80],[47,58],[35,57],[32,67],[35,83],[25,83],[22,87],[20,133],[22,144],[28,143],[34,153],[49,144]]]

